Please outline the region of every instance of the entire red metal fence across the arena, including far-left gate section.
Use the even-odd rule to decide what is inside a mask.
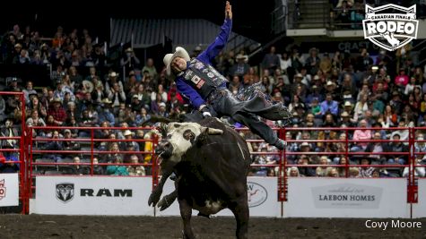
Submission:
[[[2,92],[3,94],[7,92]],[[13,92],[13,94],[15,94]],[[20,97],[23,101],[23,95],[20,94]],[[24,109],[22,107],[22,123],[24,122]],[[158,183],[160,170],[157,162],[157,158],[154,154],[155,146],[158,144],[158,139],[156,137],[151,137],[150,139],[105,139],[105,138],[97,138],[96,134],[97,132],[100,132],[102,130],[112,130],[117,132],[124,132],[125,130],[129,131],[137,131],[137,130],[143,130],[146,132],[149,132],[152,130],[152,128],[136,128],[136,127],[128,127],[128,128],[122,128],[122,127],[108,127],[108,128],[101,128],[101,127],[29,127],[25,128],[25,126],[22,124],[22,136],[21,137],[13,137],[15,140],[20,141],[20,149],[2,149],[3,151],[18,151],[20,153],[20,161],[16,162],[21,165],[21,171],[20,171],[20,199],[22,200],[22,213],[28,213],[29,212],[29,200],[33,197],[33,191],[35,189],[35,185],[33,184],[33,179],[40,175],[41,172],[38,170],[39,166],[51,166],[52,168],[57,168],[57,175],[60,175],[61,172],[58,170],[61,166],[88,166],[90,168],[89,175],[95,175],[94,174],[94,168],[95,166],[111,166],[111,165],[117,165],[117,166],[144,166],[146,168],[149,168],[149,174],[146,176],[152,177],[152,188],[156,186]],[[63,137],[58,138],[46,138],[46,137],[39,137],[34,136],[34,131],[48,131],[48,130],[57,130],[59,132],[64,132],[66,130],[83,130],[86,132],[89,132],[88,137],[77,137],[77,138],[71,138],[71,139],[65,139]],[[247,132],[248,129],[237,129],[240,132]],[[381,164],[381,165],[361,165],[361,164],[350,164],[349,160],[346,160],[345,164],[343,165],[335,165],[335,164],[328,164],[327,166],[334,166],[334,167],[343,167],[345,169],[345,177],[350,177],[349,169],[351,167],[378,167],[378,168],[404,168],[408,167],[409,172],[407,176],[407,189],[408,189],[408,203],[415,203],[417,199],[417,186],[416,186],[416,179],[417,176],[415,175],[415,168],[423,165],[418,165],[416,163],[416,156],[423,155],[425,152],[416,152],[414,145],[416,143],[424,143],[426,141],[424,140],[417,140],[415,136],[418,133],[426,132],[426,128],[392,128],[392,129],[382,129],[382,128],[283,128],[283,129],[275,129],[278,132],[278,135],[280,138],[286,140],[288,142],[287,149],[284,149],[283,151],[274,151],[274,152],[252,152],[252,155],[255,157],[256,155],[276,155],[279,160],[276,164],[253,164],[253,167],[275,167],[277,168],[277,184],[278,184],[278,200],[279,201],[286,201],[286,190],[287,190],[287,171],[288,168],[291,166],[296,166],[298,168],[302,167],[320,167],[324,165],[319,164],[309,164],[309,165],[300,165],[300,164],[291,164],[288,163],[287,159],[291,157],[298,157],[301,155],[311,155],[311,156],[343,156],[345,158],[352,158],[354,156],[368,156],[368,155],[394,155],[394,152],[364,152],[364,151],[358,151],[358,152],[352,152],[350,150],[350,146],[352,144],[356,143],[369,143],[369,142],[383,142],[388,143],[391,142],[392,139],[387,140],[352,140],[351,137],[349,137],[352,132],[356,130],[371,130],[371,131],[382,131],[386,130],[388,134],[390,132],[395,131],[408,131],[408,138],[402,142],[407,144],[407,150],[404,152],[398,152],[398,155],[404,155],[407,160],[404,165],[400,164]],[[345,139],[339,140],[339,139],[286,139],[288,137],[288,133],[294,133],[294,134],[300,134],[301,132],[338,132],[343,133],[346,135]],[[152,134],[153,135],[153,134]],[[11,139],[10,137],[2,137],[0,140],[7,140]],[[78,141],[82,142],[86,147],[83,147],[82,149],[43,149],[40,147],[43,143],[47,143],[49,141]],[[149,150],[140,149],[140,151],[137,152],[138,155],[143,156],[151,156],[149,161],[144,161],[143,163],[106,163],[106,162],[100,162],[98,164],[95,164],[93,161],[94,158],[99,158],[102,155],[109,155],[117,153],[117,151],[111,151],[110,149],[97,149],[98,144],[105,144],[109,142],[127,142],[127,141],[135,141],[135,142],[146,142],[151,143],[152,147]],[[248,140],[249,143],[259,143],[262,142],[262,140]],[[293,151],[291,150],[291,144],[293,145],[301,145],[302,142],[308,142],[308,143],[328,143],[328,144],[336,144],[336,143],[343,143],[344,150],[343,151]],[[135,151],[119,151],[120,154],[128,155],[128,154],[135,154]],[[83,160],[82,162],[74,163],[68,161],[42,161],[37,160],[37,157],[39,156],[47,156],[48,154],[61,154],[61,155],[80,155],[85,156],[87,160]],[[67,158],[67,157],[65,157]],[[424,166],[423,166],[424,167]],[[43,172],[44,174],[45,172]],[[52,173],[52,172],[50,172]],[[55,172],[53,172],[55,175]],[[52,175],[52,174],[50,174]]]

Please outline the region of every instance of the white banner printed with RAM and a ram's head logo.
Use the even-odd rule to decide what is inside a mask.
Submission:
[[[153,215],[150,177],[38,176],[30,213]]]

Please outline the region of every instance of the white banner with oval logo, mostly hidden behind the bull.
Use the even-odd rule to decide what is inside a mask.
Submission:
[[[248,177],[248,208],[250,217],[281,217],[281,202],[278,201],[277,178],[276,177]],[[174,182],[173,182],[174,183]],[[164,186],[162,196],[174,190],[174,184],[168,180]],[[193,210],[194,216],[198,214]],[[170,208],[160,211],[156,208],[156,215],[160,216],[180,216],[178,201],[175,201]],[[215,216],[233,216],[230,209],[223,209]]]

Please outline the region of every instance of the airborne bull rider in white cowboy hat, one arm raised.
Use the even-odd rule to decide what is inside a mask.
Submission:
[[[278,139],[276,133],[257,115],[270,120],[290,118],[282,104],[267,105],[264,98],[256,96],[248,101],[239,101],[228,90],[229,81],[218,73],[211,61],[225,47],[232,26],[232,11],[229,2],[225,6],[225,21],[222,31],[214,42],[196,58],[190,59],[187,51],[176,47],[176,52],[164,56],[166,73],[175,78],[178,91],[188,98],[204,117],[216,112],[219,116],[227,115],[233,120],[247,125],[252,132],[261,136],[266,142],[278,149],[284,149],[285,141]],[[210,107],[213,107],[211,110]]]

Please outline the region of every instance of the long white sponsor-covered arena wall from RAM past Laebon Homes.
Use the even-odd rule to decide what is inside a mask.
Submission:
[[[250,216],[268,218],[410,218],[425,217],[425,203],[407,203],[404,178],[289,178],[288,201],[278,201],[277,177],[248,177]],[[61,196],[60,185],[72,191]],[[419,196],[426,196],[419,179]],[[147,204],[150,177],[38,176],[30,213],[56,215],[179,216],[178,203],[164,211]],[[171,181],[163,195],[174,189]],[[68,194],[67,194],[68,193]],[[193,211],[196,215],[197,211]],[[217,216],[231,216],[229,209]]]

